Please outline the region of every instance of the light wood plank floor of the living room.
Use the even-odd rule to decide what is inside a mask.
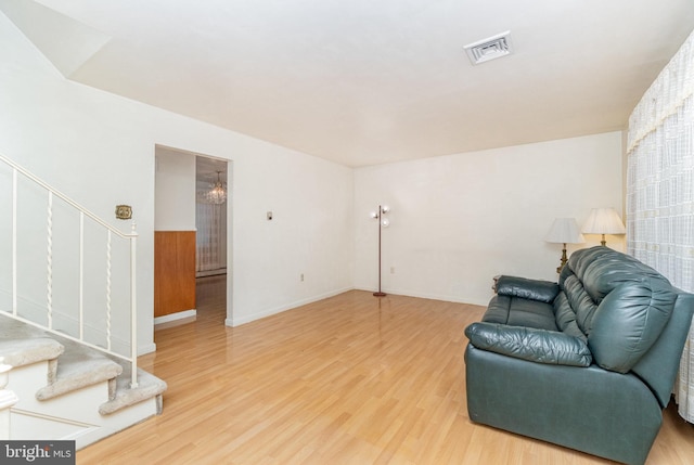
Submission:
[[[78,464],[611,463],[470,422],[463,328],[481,307],[349,292],[231,328],[215,299],[141,358],[164,413]],[[691,463],[671,404],[647,464]]]

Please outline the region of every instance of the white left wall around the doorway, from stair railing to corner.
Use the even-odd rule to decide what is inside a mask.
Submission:
[[[155,348],[156,144],[233,160],[230,323],[351,288],[350,169],[65,80],[2,14],[0,63],[0,152],[123,230],[115,205],[133,208],[141,352]]]

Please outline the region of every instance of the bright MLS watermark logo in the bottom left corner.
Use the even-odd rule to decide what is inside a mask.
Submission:
[[[0,463],[75,465],[75,441],[0,441]]]

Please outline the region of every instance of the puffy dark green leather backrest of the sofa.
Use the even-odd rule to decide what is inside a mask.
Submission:
[[[554,302],[557,325],[562,327],[560,319],[570,320],[565,298],[594,362],[619,373],[630,371],[655,343],[677,300],[657,271],[603,246],[575,251],[560,275],[560,287]]]

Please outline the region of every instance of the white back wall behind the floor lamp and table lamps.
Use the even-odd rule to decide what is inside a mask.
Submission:
[[[593,207],[621,212],[621,154],[611,132],[357,169],[356,287],[377,286],[369,212],[380,203],[391,208],[385,292],[485,305],[497,274],[555,280],[561,245],[544,235],[556,217],[580,225]],[[578,247],[600,243],[587,240]],[[621,237],[607,244],[624,249]]]

